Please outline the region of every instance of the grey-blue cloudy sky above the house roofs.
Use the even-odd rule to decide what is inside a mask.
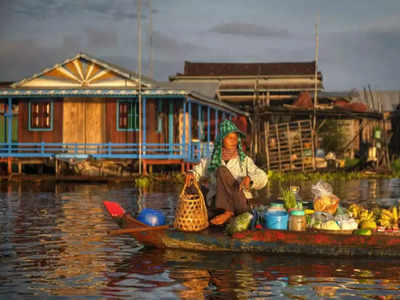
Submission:
[[[136,71],[137,1],[0,0],[0,81],[79,52]],[[141,2],[143,72],[152,49],[158,81],[185,61],[313,61],[318,23],[325,90],[400,89],[399,0],[152,0],[152,43]]]

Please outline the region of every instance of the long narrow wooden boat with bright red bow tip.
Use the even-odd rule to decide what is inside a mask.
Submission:
[[[335,234],[287,230],[247,230],[225,234],[209,227],[201,232],[182,232],[168,226],[151,227],[133,218],[115,202],[104,202],[121,229],[113,234],[130,234],[144,246],[198,251],[287,253],[326,256],[400,257],[400,236]]]

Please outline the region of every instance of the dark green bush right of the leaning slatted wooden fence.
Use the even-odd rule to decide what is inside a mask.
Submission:
[[[343,153],[346,135],[339,120],[326,120],[318,134],[322,137],[321,148],[325,150],[325,153]]]

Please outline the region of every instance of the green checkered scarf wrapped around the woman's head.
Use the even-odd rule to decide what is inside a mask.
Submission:
[[[224,120],[219,124],[219,133],[217,139],[214,143],[214,150],[211,154],[210,165],[208,166],[208,171],[210,173],[214,172],[222,163],[222,147],[224,138],[231,132],[236,132],[238,134],[238,155],[240,159],[240,164],[244,161],[246,154],[242,150],[242,140],[241,137],[245,137],[244,133],[241,132],[234,123],[230,120]]]

